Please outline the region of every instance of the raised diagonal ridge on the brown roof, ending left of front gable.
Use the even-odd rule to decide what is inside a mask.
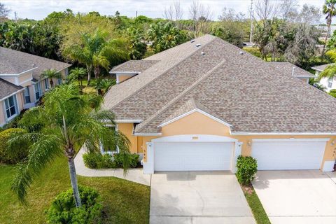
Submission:
[[[202,82],[202,80],[204,80],[205,78],[207,78],[208,76],[210,76],[213,71],[215,71],[216,69],[218,69],[219,67],[221,67],[225,62],[227,62],[227,60],[223,59],[221,62],[219,62],[218,64],[216,64],[216,66],[214,66],[212,69],[210,69],[209,71],[207,71],[207,73],[205,73],[202,77],[200,77],[199,79],[197,79],[193,84],[189,85],[185,90],[183,90],[180,94],[178,94],[176,97],[174,97],[174,99],[172,99],[171,101],[169,101],[165,106],[162,106],[162,108],[159,111],[157,111],[157,113],[154,113],[151,117],[149,117],[148,119],[146,119],[143,123],[140,123],[140,125],[142,127],[144,127],[145,125],[147,125],[148,123],[150,123],[154,118],[158,117],[160,115],[160,113],[162,113],[163,111],[165,111],[167,108],[169,108],[169,106],[171,106],[177,100],[179,100],[181,97],[183,97],[183,95],[187,94],[190,90],[193,90],[193,87],[195,87],[196,85],[200,84]],[[193,102],[193,103],[195,104],[195,106],[197,106],[197,104],[195,102]],[[140,127],[139,130],[141,130],[142,127]]]

